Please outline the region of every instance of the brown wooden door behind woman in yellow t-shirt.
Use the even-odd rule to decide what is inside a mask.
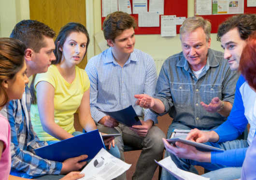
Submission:
[[[86,25],[85,0],[29,0],[29,11],[30,19],[48,25],[55,30],[56,34],[69,22]],[[85,55],[78,67],[85,69],[86,64],[87,56]]]

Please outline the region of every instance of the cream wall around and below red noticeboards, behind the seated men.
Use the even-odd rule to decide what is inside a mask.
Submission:
[[[100,0],[94,0],[94,33],[101,30],[101,6]],[[192,17],[195,14],[195,0],[188,0],[188,17]],[[175,14],[169,14],[175,15]],[[176,37],[161,37],[160,34],[154,35],[136,35],[135,48],[152,55],[153,58],[164,58],[180,53],[181,42],[180,36]],[[220,42],[216,41],[216,33],[211,34],[212,45],[211,48],[217,51],[223,51],[220,46]],[[95,55],[101,53],[100,47],[95,41]]]

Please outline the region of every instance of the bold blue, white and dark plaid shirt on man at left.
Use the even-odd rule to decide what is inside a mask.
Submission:
[[[58,175],[62,163],[49,161],[35,155],[34,149],[48,145],[40,141],[33,130],[30,121],[30,93],[26,86],[26,107],[28,110],[29,125],[25,116],[21,99],[11,100],[0,113],[8,119],[11,125],[11,175],[22,178],[34,178],[45,174]]]

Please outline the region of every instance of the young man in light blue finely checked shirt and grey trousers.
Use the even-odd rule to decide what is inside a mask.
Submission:
[[[132,179],[151,180],[157,168],[154,160],[159,161],[163,156],[162,138],[165,134],[155,125],[154,113],[135,105],[134,95],[144,93],[153,96],[157,81],[153,58],[134,49],[136,26],[135,20],[127,13],[109,14],[102,27],[110,48],[92,57],[85,70],[91,83],[91,114],[98,129],[107,134],[122,134],[115,138],[115,144],[123,161],[124,144],[142,148]],[[118,111],[130,105],[142,125],[129,128],[98,110]],[[126,180],[126,174],[117,179]]]

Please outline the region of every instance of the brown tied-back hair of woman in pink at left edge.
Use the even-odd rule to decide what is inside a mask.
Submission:
[[[14,79],[24,66],[26,45],[16,39],[0,38],[0,84],[5,79]],[[0,85],[0,107],[8,102],[8,95]]]

